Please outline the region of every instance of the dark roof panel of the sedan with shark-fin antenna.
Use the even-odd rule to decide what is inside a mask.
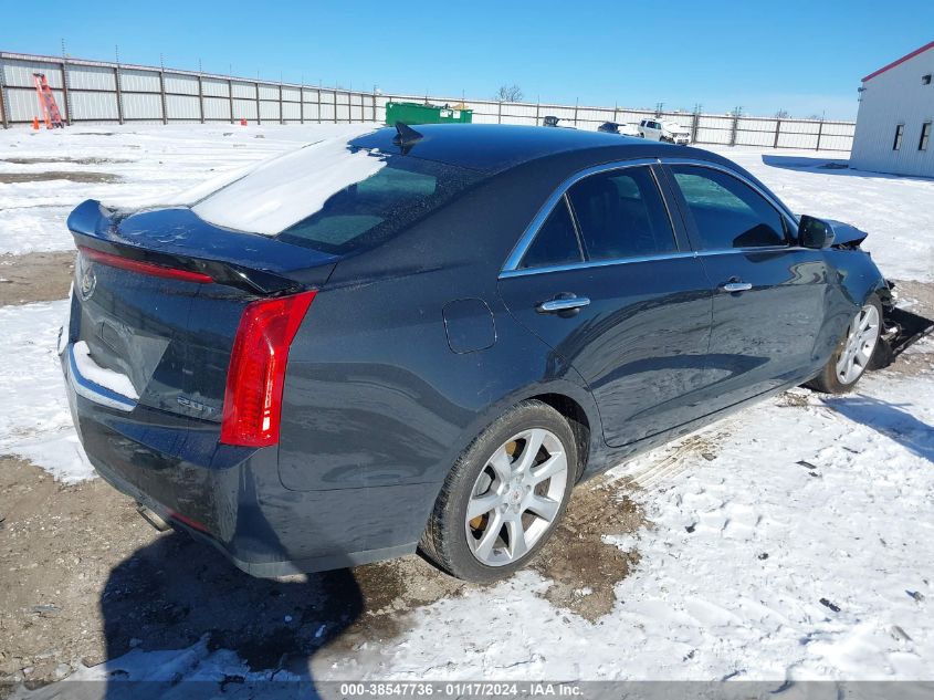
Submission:
[[[713,154],[642,138],[586,132],[573,128],[518,126],[500,124],[419,124],[413,125],[421,138],[407,147],[393,143],[393,127],[365,134],[350,142],[351,146],[379,149],[382,153],[403,153],[416,158],[448,163],[484,173],[500,173],[508,168],[559,154],[588,150],[594,163],[613,159],[688,155],[707,159]],[[720,160],[716,156],[709,159]]]

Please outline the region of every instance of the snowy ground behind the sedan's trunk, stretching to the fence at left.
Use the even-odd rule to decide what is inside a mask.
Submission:
[[[0,253],[71,250],[64,221],[85,199],[123,206],[155,201],[303,144],[371,128],[188,124],[0,130]],[[46,173],[56,175],[4,181],[4,176]],[[113,176],[118,180],[98,181]]]

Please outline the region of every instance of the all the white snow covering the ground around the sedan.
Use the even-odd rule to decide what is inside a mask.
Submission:
[[[70,248],[62,217],[86,197],[166,196],[206,170],[242,166],[342,128],[348,127],[0,133],[0,175],[54,168],[124,178],[0,186],[0,252]],[[839,159],[835,154],[723,153],[794,210],[870,231],[869,248],[885,274],[934,280],[934,181],[822,167]],[[13,156],[130,163],[15,165]],[[91,471],[55,356],[64,313],[65,302],[0,309],[7,389],[0,452],[74,481]],[[922,351],[934,352],[934,342],[914,352]],[[682,441],[617,468],[611,476],[620,489],[627,480],[641,487],[627,492],[653,525],[637,536],[606,533],[610,545],[636,550],[641,560],[617,584],[611,613],[596,623],[554,607],[541,595],[549,582],[523,572],[416,610],[391,645],[356,655],[324,649],[311,661],[311,677],[932,678],[932,389],[934,367],[913,377],[871,375],[847,397],[796,391],[695,436],[703,450]],[[126,678],[242,671],[232,651],[199,645],[135,650],[105,668],[123,669]]]

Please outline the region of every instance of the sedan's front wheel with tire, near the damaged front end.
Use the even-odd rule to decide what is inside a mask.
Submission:
[[[823,394],[846,394],[872,366],[882,334],[882,304],[874,294],[857,312],[820,374],[806,386]]]

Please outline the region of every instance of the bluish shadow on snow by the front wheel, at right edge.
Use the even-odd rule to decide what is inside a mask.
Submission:
[[[853,394],[823,400],[828,408],[891,438],[914,455],[934,462],[934,427],[906,410],[907,404]]]

